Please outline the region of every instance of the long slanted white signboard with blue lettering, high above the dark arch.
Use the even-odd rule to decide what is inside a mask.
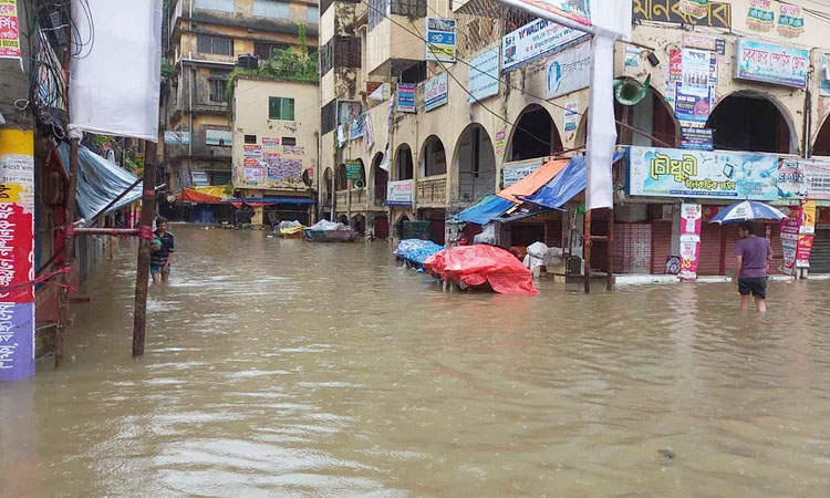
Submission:
[[[585,38],[588,34],[582,31],[537,19],[501,39],[501,71],[511,71]]]

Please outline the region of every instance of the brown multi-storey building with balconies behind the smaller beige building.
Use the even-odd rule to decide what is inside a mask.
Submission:
[[[160,120],[170,190],[231,181],[232,131],[227,83],[239,58],[258,61],[317,46],[318,6],[310,0],[172,0],[166,12],[169,76]],[[248,58],[243,58],[250,61]],[[249,64],[249,62],[246,62]]]

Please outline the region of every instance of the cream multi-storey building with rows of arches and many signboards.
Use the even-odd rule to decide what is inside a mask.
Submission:
[[[738,197],[778,204],[808,197],[819,207],[816,268],[830,271],[830,187],[820,191],[819,178],[830,166],[801,165],[806,174],[789,175],[809,177],[812,189],[805,194],[777,181],[781,166],[761,170],[756,164],[793,168],[799,159],[830,156],[830,43],[821,35],[830,23],[809,6],[779,2],[686,8],[679,0],[632,2],[634,43],[616,44],[614,74],[649,84],[633,100],[621,96],[630,105],[615,104],[618,143],[632,158],[660,147],[685,151],[672,153],[678,157],[712,147],[712,160],[724,163],[718,183],[737,187],[718,190],[713,176],[697,184],[706,188],[661,194],[642,184],[632,188],[642,165],[615,164],[614,226],[637,246],[619,255],[618,270],[663,273],[667,256],[679,250],[683,200],[701,204],[707,221]],[[394,232],[404,219],[427,219],[442,241],[449,234],[444,220],[470,204],[556,156],[584,153],[590,45],[560,28],[495,0],[323,2],[320,198],[326,215],[376,236]],[[455,61],[426,56],[425,39],[433,35],[454,40]],[[346,174],[355,163],[363,165],[361,179]],[[708,169],[699,164],[699,172]],[[501,245],[543,239],[579,255],[581,199],[566,212],[502,224]],[[594,225],[603,216],[596,214]],[[769,228],[780,256],[779,227]],[[704,224],[702,273],[730,271],[732,231]],[[631,243],[615,252],[625,247]]]

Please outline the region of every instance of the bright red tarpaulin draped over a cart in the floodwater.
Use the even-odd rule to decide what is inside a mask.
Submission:
[[[424,261],[424,268],[443,280],[467,286],[489,283],[500,294],[538,294],[533,273],[508,251],[475,245],[444,249]]]

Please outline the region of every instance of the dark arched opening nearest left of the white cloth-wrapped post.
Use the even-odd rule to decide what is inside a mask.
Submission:
[[[562,138],[548,110],[530,104],[519,116],[511,131],[507,160],[532,159],[562,151]]]

